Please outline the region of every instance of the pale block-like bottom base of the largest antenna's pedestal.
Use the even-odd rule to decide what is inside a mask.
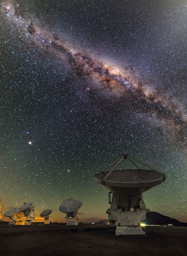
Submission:
[[[117,226],[115,228],[115,235],[145,235],[145,232],[140,226]]]

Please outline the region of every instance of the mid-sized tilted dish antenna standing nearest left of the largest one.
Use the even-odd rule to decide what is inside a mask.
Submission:
[[[66,199],[62,202],[62,204],[59,206],[59,210],[60,212],[66,213],[66,225],[78,225],[79,216],[77,215],[77,212],[80,207],[82,207],[82,202],[72,198]]]

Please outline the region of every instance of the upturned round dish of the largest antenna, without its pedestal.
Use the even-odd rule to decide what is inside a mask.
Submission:
[[[165,175],[155,170],[113,170],[108,174],[109,172],[97,173],[94,176],[95,182],[118,195],[140,195],[165,180]]]

